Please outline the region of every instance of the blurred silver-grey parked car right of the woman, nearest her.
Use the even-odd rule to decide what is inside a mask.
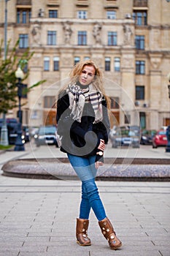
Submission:
[[[140,127],[117,127],[115,129],[115,135],[112,136],[111,141],[112,148],[117,148],[117,146],[132,146],[133,148],[139,148]]]

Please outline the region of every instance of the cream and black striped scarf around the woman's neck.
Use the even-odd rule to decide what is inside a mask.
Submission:
[[[81,122],[82,110],[85,102],[91,102],[95,113],[95,123],[102,121],[102,105],[101,105],[101,93],[96,91],[95,87],[91,83],[87,89],[81,89],[76,83],[70,84],[66,89],[69,95],[69,108],[72,110],[71,116],[74,120]]]

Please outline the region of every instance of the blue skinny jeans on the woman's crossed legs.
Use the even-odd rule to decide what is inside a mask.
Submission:
[[[77,176],[82,181],[82,200],[80,203],[80,219],[88,219],[90,208],[93,209],[98,221],[106,218],[103,203],[98,195],[96,186],[96,167],[95,156],[92,157],[77,157],[72,154],[67,154],[69,162],[74,168]]]

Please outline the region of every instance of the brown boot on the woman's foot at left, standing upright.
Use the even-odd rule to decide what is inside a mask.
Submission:
[[[77,244],[81,246],[91,245],[90,238],[88,238],[88,219],[78,219],[76,227]]]

